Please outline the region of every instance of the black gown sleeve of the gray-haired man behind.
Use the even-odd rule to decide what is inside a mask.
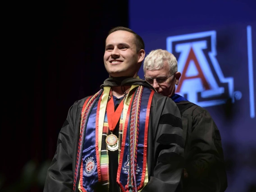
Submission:
[[[198,186],[209,191],[224,192],[227,178],[219,130],[207,110],[197,107],[193,111],[192,133],[188,141],[186,167],[188,178],[196,191]],[[199,182],[199,183],[197,183]],[[193,190],[193,189],[191,189]],[[200,191],[201,192],[201,191]]]

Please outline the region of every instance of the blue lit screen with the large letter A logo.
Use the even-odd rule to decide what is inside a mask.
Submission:
[[[176,93],[215,120],[227,165],[226,192],[256,187],[255,10],[256,0],[129,1],[129,27],[142,36],[146,54],[173,53],[182,73]]]

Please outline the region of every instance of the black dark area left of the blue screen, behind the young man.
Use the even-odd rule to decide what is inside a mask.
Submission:
[[[10,56],[2,63],[0,190],[41,192],[69,107],[108,78],[105,37],[112,27],[128,27],[128,0],[12,6]]]

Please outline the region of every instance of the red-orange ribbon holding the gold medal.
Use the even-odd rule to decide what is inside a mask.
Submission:
[[[107,104],[107,117],[108,117],[108,123],[110,132],[113,133],[114,128],[116,124],[118,123],[122,110],[123,110],[123,101],[119,104],[118,108],[114,110],[114,100],[112,96],[112,91],[110,90],[110,101]]]

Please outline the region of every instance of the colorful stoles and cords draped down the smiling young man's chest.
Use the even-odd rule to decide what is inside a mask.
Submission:
[[[82,109],[73,191],[93,192],[97,183],[109,188],[106,104],[110,87],[87,99]],[[141,190],[147,179],[147,128],[154,91],[133,85],[119,121],[117,183],[123,192]],[[88,139],[87,139],[88,138]]]

